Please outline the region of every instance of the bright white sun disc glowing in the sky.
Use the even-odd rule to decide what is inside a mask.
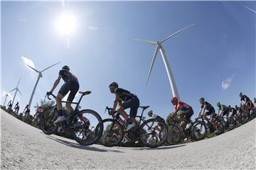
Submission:
[[[72,13],[63,13],[55,21],[55,28],[61,35],[75,33],[78,26],[77,18]]]

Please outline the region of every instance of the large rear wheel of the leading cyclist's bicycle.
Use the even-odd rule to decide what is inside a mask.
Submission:
[[[75,115],[72,124],[73,137],[80,145],[92,145],[99,142],[102,136],[103,123],[100,115],[92,110],[86,109]]]

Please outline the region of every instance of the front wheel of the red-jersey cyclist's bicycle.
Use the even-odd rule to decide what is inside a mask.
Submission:
[[[181,142],[181,133],[178,130],[178,126],[171,124],[168,125],[168,136],[166,138],[166,143],[168,145],[177,145]]]

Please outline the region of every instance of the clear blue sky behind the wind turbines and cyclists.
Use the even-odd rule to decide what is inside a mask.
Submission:
[[[92,91],[83,98],[82,108],[92,108],[107,118],[105,106],[112,106],[114,100],[108,85],[117,81],[121,88],[137,94],[142,106],[149,105],[166,117],[174,106],[161,55],[146,86],[155,46],[134,38],[162,40],[196,23],[163,44],[181,101],[193,106],[195,115],[201,96],[214,106],[218,101],[234,106],[240,101],[240,91],[255,97],[256,13],[245,6],[256,9],[252,1],[84,1],[65,6],[1,1],[1,100],[4,91],[14,89],[22,77],[23,95],[18,94],[17,100],[23,109],[38,76],[24,63],[31,61],[42,70],[61,62],[43,72],[32,106],[44,98],[59,69],[68,64],[80,81],[80,90]],[[61,13],[76,18],[71,35],[60,35],[55,29]]]

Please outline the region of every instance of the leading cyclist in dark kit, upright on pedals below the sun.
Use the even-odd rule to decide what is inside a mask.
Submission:
[[[58,118],[57,118],[57,120],[55,120],[54,123],[60,123],[63,120],[67,119],[65,117],[65,115],[63,115],[61,101],[68,94],[68,91],[70,91],[70,94],[68,95],[67,101],[70,103],[66,103],[65,107],[68,112],[70,112],[71,114],[74,113],[74,110],[71,107],[71,102],[74,100],[75,94],[77,94],[78,89],[79,89],[78,78],[75,77],[75,75],[70,72],[70,68],[67,65],[65,65],[60,70],[60,72],[58,74],[58,79],[55,80],[55,82],[53,84],[53,88],[47,92],[47,95],[50,95],[53,93],[55,88],[60,83],[61,78],[63,79],[63,81],[65,83],[63,84],[63,86],[61,86],[60,90],[58,91],[58,95],[56,96]],[[69,115],[71,115],[71,114],[69,114]]]

